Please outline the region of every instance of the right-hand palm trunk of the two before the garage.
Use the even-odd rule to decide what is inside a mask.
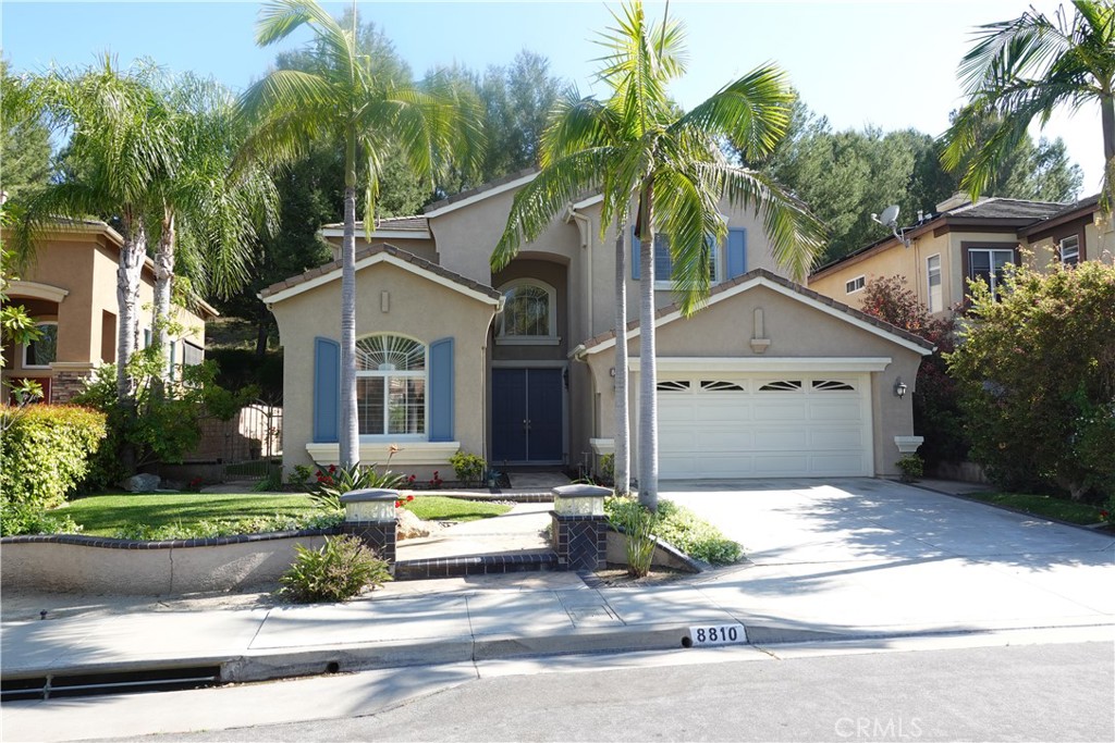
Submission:
[[[658,510],[658,370],[655,366],[655,228],[651,186],[639,208],[639,502]]]

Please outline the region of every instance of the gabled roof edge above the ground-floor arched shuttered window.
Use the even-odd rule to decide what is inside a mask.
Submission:
[[[493,305],[498,305],[503,299],[503,295],[491,286],[473,281],[472,278],[466,278],[458,273],[443,268],[436,263],[430,263],[425,258],[418,257],[414,253],[399,250],[398,247],[388,245],[387,243],[369,245],[356,252],[357,271],[377,263],[390,263],[391,265],[398,266],[404,271],[418,274],[419,276],[424,276],[434,283],[448,286],[449,289],[458,291],[462,294],[466,294],[473,299],[487,302]],[[332,261],[331,263],[320,265],[317,268],[310,268],[306,273],[298,276],[292,276],[285,281],[272,284],[260,292],[259,296],[263,300],[264,304],[274,304],[275,302],[282,302],[283,300],[323,284],[340,281],[340,278],[341,262]]]

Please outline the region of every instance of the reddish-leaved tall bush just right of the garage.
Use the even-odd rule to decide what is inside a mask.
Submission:
[[[937,346],[932,355],[922,359],[914,383],[913,431],[925,439],[918,453],[930,468],[940,462],[963,461],[969,448],[964,417],[956,382],[949,377],[944,361],[944,354],[953,349],[953,321],[930,315],[901,276],[867,282],[863,311]]]

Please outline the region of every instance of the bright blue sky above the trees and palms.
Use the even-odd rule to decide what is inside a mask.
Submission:
[[[348,3],[324,3],[339,14]],[[1054,2],[1036,2],[1051,12]],[[550,58],[552,71],[593,89],[595,32],[611,21],[603,2],[371,2],[363,19],[380,26],[416,74],[458,62],[505,65],[520,49]],[[979,23],[1015,18],[1022,0],[978,2],[696,2],[673,0],[685,21],[689,66],[672,91],[686,107],[752,68],[775,61],[805,102],[838,129],[914,127],[938,135],[961,102],[956,66]],[[192,69],[243,89],[277,51],[307,35],[260,49],[253,32],[259,2],[0,3],[4,57],[17,70],[56,61],[86,65],[106,50],[123,65],[148,56],[172,70]],[[661,16],[665,6],[648,3]],[[1084,193],[1098,190],[1102,143],[1097,108],[1058,116],[1060,136],[1085,170]],[[882,205],[881,205],[882,206]]]

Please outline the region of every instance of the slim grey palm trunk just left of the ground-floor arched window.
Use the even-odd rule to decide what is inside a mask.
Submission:
[[[349,127],[345,153],[345,237],[341,241],[341,414],[340,463],[360,463],[356,409],[356,131]]]

